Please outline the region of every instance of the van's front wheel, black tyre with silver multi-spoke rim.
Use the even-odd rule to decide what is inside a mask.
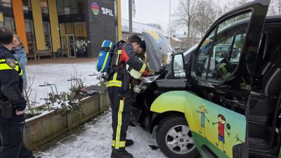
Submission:
[[[159,123],[157,144],[169,158],[194,158],[198,156],[188,123],[181,116],[166,117]]]

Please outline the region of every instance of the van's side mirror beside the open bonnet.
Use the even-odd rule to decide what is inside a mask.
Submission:
[[[175,54],[173,55],[172,63],[171,63],[171,70],[173,72],[174,77],[176,78],[185,78],[185,63],[183,54]]]

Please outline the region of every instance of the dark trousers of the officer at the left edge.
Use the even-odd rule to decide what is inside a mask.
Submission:
[[[23,121],[23,116],[12,119],[0,117],[2,138],[0,158],[26,158],[32,155],[32,152],[27,150],[22,141]]]

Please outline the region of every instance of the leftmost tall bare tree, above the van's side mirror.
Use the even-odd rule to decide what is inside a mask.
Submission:
[[[190,29],[195,20],[197,4],[196,0],[180,0],[174,13],[174,23],[178,25],[178,27],[187,27],[188,37],[190,37]]]

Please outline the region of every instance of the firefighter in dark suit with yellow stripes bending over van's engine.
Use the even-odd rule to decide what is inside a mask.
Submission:
[[[130,69],[147,75],[148,67],[136,56],[136,51],[141,44],[141,38],[131,35],[128,43],[117,47],[113,66],[107,79],[107,91],[112,106],[112,153],[111,158],[133,158],[125,147],[133,145],[133,140],[126,139],[126,131],[131,118],[129,106],[131,96],[131,79],[133,74]],[[129,66],[129,69],[128,69]]]

